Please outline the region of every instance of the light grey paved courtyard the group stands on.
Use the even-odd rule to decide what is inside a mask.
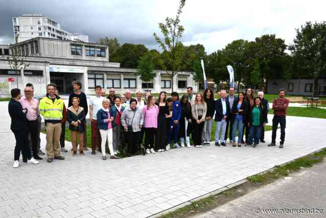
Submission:
[[[68,152],[64,161],[21,162],[14,169],[7,105],[0,102],[0,217],[155,216],[323,148],[326,139],[326,119],[288,116],[284,149],[267,147],[267,132],[267,143],[256,148],[178,148],[106,161],[89,151],[76,157]],[[44,150],[44,135],[41,140]]]

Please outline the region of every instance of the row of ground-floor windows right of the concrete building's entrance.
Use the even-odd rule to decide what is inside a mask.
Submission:
[[[94,89],[95,86],[104,87],[103,74],[88,74],[88,88]],[[126,89],[136,89],[136,79],[124,78],[123,87]],[[121,89],[121,79],[106,79],[106,88]],[[142,82],[142,89],[153,89],[153,82]],[[187,81],[179,80],[178,89],[187,88]],[[161,89],[171,89],[171,80],[161,80]]]

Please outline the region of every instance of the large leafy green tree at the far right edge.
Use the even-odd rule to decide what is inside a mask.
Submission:
[[[307,22],[296,29],[296,37],[290,46],[301,74],[313,77],[313,92],[318,92],[318,79],[326,73],[326,21]]]

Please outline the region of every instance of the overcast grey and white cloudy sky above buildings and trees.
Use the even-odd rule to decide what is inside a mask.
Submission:
[[[153,33],[158,23],[175,16],[178,0],[0,0],[0,44],[13,42],[12,17],[42,13],[68,32],[79,32],[97,42],[117,37],[120,43],[143,43],[158,49]],[[325,20],[324,0],[187,0],[181,24],[185,45],[201,43],[206,52],[224,48],[235,39],[254,40],[276,34],[291,43],[295,29],[307,20]]]

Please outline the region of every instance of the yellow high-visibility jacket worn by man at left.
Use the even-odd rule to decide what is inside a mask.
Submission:
[[[48,96],[42,98],[39,104],[40,114],[45,121],[59,123],[62,119],[63,101],[56,96],[54,102]]]

